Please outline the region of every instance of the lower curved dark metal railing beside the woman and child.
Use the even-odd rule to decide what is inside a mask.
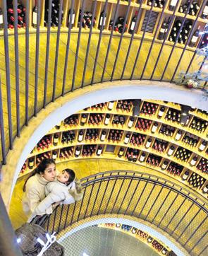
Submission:
[[[149,221],[171,235],[190,255],[207,255],[208,206],[179,185],[154,175],[111,171],[82,179],[81,202],[56,208],[44,223],[59,233],[99,214],[124,214]]]

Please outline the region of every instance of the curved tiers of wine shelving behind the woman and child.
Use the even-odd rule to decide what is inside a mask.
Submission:
[[[171,175],[207,197],[207,112],[190,108],[181,123],[183,105],[139,102],[138,116],[133,115],[135,100],[118,100],[67,117],[35,146],[20,176],[43,158],[54,158],[56,163],[110,158]]]

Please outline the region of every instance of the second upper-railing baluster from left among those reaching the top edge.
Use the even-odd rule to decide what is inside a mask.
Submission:
[[[19,76],[19,40],[18,40],[18,3],[13,0],[14,16],[14,41],[15,41],[15,62],[16,62],[16,120],[17,136],[20,137],[20,76]]]

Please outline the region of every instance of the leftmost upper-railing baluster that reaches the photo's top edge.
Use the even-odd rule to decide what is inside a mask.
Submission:
[[[3,19],[4,19],[4,53],[6,64],[6,102],[8,110],[8,136],[9,136],[9,149],[13,149],[13,136],[12,136],[12,120],[11,120],[11,83],[10,83],[10,66],[9,66],[9,49],[8,49],[8,28],[7,28],[7,8],[6,0],[3,0]]]

